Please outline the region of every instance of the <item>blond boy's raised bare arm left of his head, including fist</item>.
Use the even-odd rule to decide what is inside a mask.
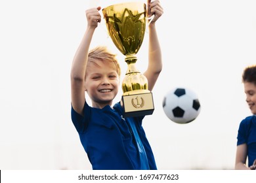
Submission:
[[[101,20],[98,10],[100,10],[100,7],[86,10],[87,29],[75,53],[70,72],[72,107],[81,115],[83,115],[83,107],[85,105],[85,70],[88,61],[89,46],[95,28]]]

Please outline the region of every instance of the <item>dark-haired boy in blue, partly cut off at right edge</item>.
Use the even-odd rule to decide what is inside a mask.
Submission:
[[[246,67],[242,75],[246,102],[253,116],[240,123],[236,148],[235,169],[255,170],[256,165],[256,65]],[[248,158],[248,167],[245,165]]]

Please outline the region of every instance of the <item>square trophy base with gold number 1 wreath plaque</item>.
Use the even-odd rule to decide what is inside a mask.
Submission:
[[[151,92],[135,95],[123,95],[122,101],[125,117],[137,117],[153,114],[154,101]]]

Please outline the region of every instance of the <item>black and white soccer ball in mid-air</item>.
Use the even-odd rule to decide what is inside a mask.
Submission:
[[[201,106],[198,96],[188,88],[173,88],[163,98],[166,116],[177,124],[188,124],[195,120]]]

